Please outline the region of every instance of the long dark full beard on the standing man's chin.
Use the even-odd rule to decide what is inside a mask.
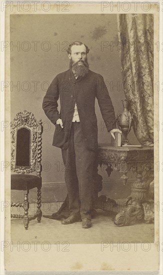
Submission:
[[[82,63],[78,64],[81,61]],[[77,62],[73,62],[72,58],[69,60],[69,68],[75,73],[76,76],[85,76],[88,73],[89,65],[87,62],[87,58],[85,60],[79,60]]]

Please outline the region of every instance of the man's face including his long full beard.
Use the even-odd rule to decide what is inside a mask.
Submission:
[[[82,45],[73,45],[71,53],[68,53],[69,67],[76,76],[85,76],[88,73],[88,62],[86,58],[86,47]]]

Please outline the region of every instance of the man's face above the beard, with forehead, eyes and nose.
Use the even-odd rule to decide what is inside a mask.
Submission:
[[[82,64],[80,60],[85,60],[86,59],[86,47],[82,45],[73,45],[71,47],[71,54],[68,53],[69,59],[72,58],[72,61],[74,63],[78,62],[79,64]]]

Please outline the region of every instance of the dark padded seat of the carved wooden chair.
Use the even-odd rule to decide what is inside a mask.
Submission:
[[[29,190],[41,186],[41,177],[30,174],[11,174],[11,190]]]

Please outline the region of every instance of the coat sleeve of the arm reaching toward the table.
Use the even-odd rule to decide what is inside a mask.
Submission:
[[[107,131],[116,128],[115,113],[112,101],[108,94],[108,90],[104,83],[103,77],[100,74],[98,74],[96,78],[96,98],[98,100],[98,105]]]

